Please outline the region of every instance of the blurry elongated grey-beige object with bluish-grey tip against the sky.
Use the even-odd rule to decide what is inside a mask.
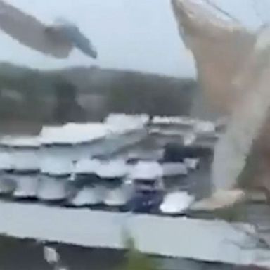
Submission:
[[[67,58],[75,47],[91,58],[97,57],[91,41],[72,23],[58,20],[55,25],[44,25],[1,0],[0,28],[21,44],[55,58]]]

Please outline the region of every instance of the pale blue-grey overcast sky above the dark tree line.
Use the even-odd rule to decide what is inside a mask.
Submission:
[[[27,49],[0,32],[0,61],[42,69],[99,65],[177,77],[195,75],[193,58],[179,38],[169,0],[6,1],[36,15],[44,23],[58,17],[68,18],[90,37],[99,57],[91,60],[73,51],[68,59],[56,60]],[[256,28],[263,20],[270,20],[268,0],[215,2],[248,27]]]

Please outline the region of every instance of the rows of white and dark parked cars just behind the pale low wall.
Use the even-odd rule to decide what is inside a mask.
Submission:
[[[195,199],[188,193],[188,176],[207,155],[208,149],[169,146],[159,161],[84,158],[70,166],[59,159],[41,170],[6,168],[0,193],[67,207],[181,214]]]

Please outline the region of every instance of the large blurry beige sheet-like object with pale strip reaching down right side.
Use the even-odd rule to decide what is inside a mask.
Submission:
[[[241,177],[248,158],[252,160],[250,166],[260,163],[259,174],[250,174],[251,186],[270,194],[269,166],[261,165],[269,162],[270,153],[266,147],[270,107],[269,27],[251,33],[238,23],[207,12],[198,1],[172,0],[172,6],[180,34],[195,58],[198,79],[207,98],[227,117],[226,131],[214,150],[212,196],[193,208],[214,210],[244,200],[246,190],[240,188],[246,188],[250,176]]]

